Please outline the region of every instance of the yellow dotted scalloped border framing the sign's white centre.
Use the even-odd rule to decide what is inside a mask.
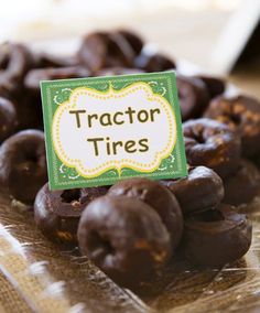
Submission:
[[[104,162],[99,166],[87,169],[79,159],[72,159],[66,155],[66,152],[62,145],[61,134],[59,134],[61,118],[64,111],[74,109],[77,106],[77,100],[79,96],[88,95],[96,99],[107,100],[111,98],[123,98],[128,96],[129,94],[133,94],[140,89],[142,89],[147,94],[148,100],[150,101],[155,100],[162,105],[164,111],[166,112],[166,118],[170,125],[169,142],[162,151],[156,152],[154,154],[153,162],[143,164],[141,162],[136,162],[131,159],[122,159],[120,161],[113,160],[113,161]],[[69,97],[69,100],[58,106],[57,110],[54,114],[53,122],[52,122],[52,140],[53,140],[53,147],[54,147],[54,150],[57,156],[66,166],[75,168],[76,171],[82,176],[87,177],[87,179],[97,177],[101,175],[102,173],[109,170],[112,170],[112,169],[116,169],[120,173],[120,170],[122,168],[129,168],[129,169],[139,171],[141,173],[153,172],[160,166],[161,161],[171,154],[171,152],[173,151],[175,147],[176,138],[177,138],[176,119],[175,119],[175,114],[173,111],[172,106],[163,96],[153,94],[152,88],[148,84],[142,83],[142,82],[131,84],[130,86],[127,86],[120,90],[115,90],[111,85],[107,91],[100,91],[100,90],[91,89],[88,87],[76,88],[73,90]]]

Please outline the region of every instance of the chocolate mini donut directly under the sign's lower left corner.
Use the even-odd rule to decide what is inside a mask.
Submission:
[[[36,226],[54,242],[76,244],[77,227],[84,208],[107,191],[106,187],[50,191],[46,183],[34,202]]]

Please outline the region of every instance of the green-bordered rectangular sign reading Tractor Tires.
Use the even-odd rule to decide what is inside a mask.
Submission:
[[[52,190],[186,175],[174,72],[41,82]]]

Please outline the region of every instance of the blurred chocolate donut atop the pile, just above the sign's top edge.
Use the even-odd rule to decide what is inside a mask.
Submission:
[[[84,39],[78,57],[95,73],[105,67],[131,67],[134,53],[123,35],[95,32]]]

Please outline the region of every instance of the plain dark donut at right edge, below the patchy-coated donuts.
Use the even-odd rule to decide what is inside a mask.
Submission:
[[[238,170],[224,180],[224,203],[231,205],[251,202],[260,191],[260,172],[250,161],[242,160]]]

